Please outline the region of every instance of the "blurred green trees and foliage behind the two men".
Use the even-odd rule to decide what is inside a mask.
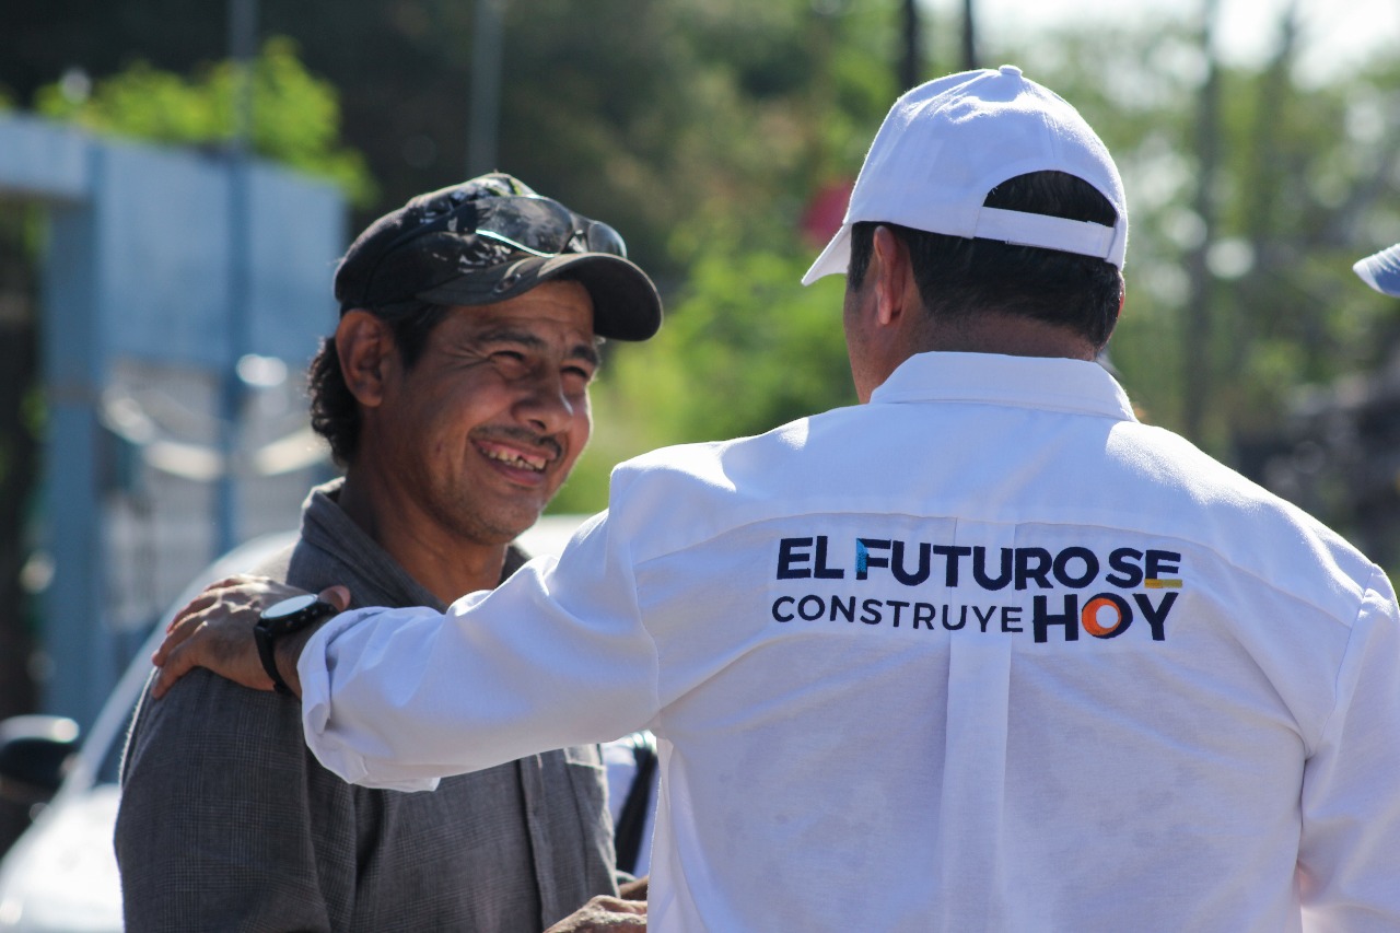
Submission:
[[[616,226],[668,307],[658,338],[608,347],[595,438],[556,510],[602,507],[612,464],[648,447],[851,402],[840,282],[798,284],[820,248],[802,217],[815,192],[854,178],[900,90],[900,3],[510,0],[504,11],[497,167]],[[959,18],[921,11],[924,74],[956,70]],[[259,15],[265,35],[295,39],[300,74],[339,91],[343,139],[378,185],[358,224],[466,174],[475,4],[260,0]],[[25,104],[69,66],[125,70],[134,97],[169,99],[171,113],[143,119],[197,123],[154,80],[160,67],[193,74],[181,85],[221,99],[213,111],[227,119],[227,90],[216,91],[225,66],[206,64],[223,57],[224,25],[176,0],[21,4],[0,35],[0,81]],[[1131,25],[1070,22],[1022,48],[980,45],[984,64],[1016,62],[1075,104],[1117,158],[1131,241],[1112,354],[1145,417],[1180,430],[1186,387],[1204,388],[1191,438],[1263,476],[1260,451],[1291,443],[1299,406],[1382,370],[1396,346],[1397,303],[1351,263],[1400,240],[1400,59],[1303,81],[1308,35],[1263,14],[1257,28],[1274,32],[1277,53],[1221,66],[1210,179],[1200,24],[1144,8]],[[94,101],[119,108],[105,91],[115,80],[99,77]],[[318,129],[323,108],[276,106],[255,108],[260,151],[265,139],[308,136],[336,151]],[[1329,521],[1348,521],[1343,493],[1313,499]]]

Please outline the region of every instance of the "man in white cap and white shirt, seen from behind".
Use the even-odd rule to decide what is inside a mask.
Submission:
[[[1061,98],[910,91],[808,273],[865,403],[640,457],[557,562],[287,642],[308,744],[409,787],[650,726],[654,930],[1400,929],[1390,584],[1137,423],[1092,361],[1126,242]],[[161,682],[266,688],[287,593],[196,601]]]

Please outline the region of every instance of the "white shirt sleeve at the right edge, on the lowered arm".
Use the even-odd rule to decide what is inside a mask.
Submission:
[[[1400,930],[1400,618],[1385,574],[1372,584],[1303,768],[1298,866],[1312,932]]]

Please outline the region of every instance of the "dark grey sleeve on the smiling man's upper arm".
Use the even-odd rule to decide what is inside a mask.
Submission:
[[[353,888],[354,864],[318,864],[307,766],[286,698],[209,671],[146,693],[113,839],[126,929],[329,932],[321,871]]]

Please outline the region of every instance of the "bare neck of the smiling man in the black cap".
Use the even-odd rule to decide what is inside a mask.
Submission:
[[[372,474],[347,471],[337,504],[409,576],[444,602],[476,590],[494,590],[507,545],[480,544],[452,534]]]

